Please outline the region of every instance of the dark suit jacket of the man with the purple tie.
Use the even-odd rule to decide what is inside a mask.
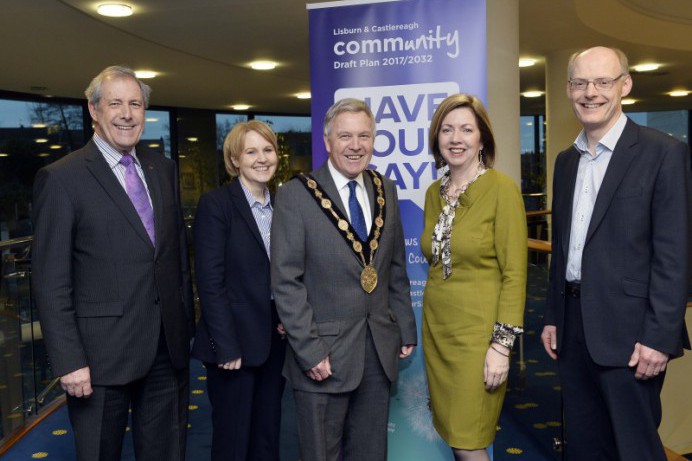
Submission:
[[[91,140],[34,182],[33,291],[53,372],[89,366],[94,385],[151,367],[161,325],[173,366],[188,366],[192,287],[175,164],[137,149],[156,248]]]

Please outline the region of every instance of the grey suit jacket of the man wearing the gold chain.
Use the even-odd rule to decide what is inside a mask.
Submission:
[[[313,176],[348,216],[327,164]],[[368,174],[364,182],[375,210],[375,191]],[[385,224],[374,259],[379,280],[370,294],[360,286],[363,267],[358,256],[302,182],[293,179],[277,193],[271,237],[272,287],[290,346],[284,375],[294,389],[327,393],[355,389],[363,374],[368,327],[391,381],[398,376],[399,348],[416,344],[396,188],[386,178],[383,182]],[[332,376],[322,382],[308,378],[305,372],[327,356]]]

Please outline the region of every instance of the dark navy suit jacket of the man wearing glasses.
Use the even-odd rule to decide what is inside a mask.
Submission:
[[[558,352],[578,164],[574,146],[555,162],[545,323],[557,326]],[[689,348],[684,315],[691,230],[687,145],[628,120],[598,192],[582,256],[584,334],[596,363],[627,366],[636,342],[671,357]]]

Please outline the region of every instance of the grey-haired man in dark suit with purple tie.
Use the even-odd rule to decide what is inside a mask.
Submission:
[[[33,290],[80,461],[183,460],[194,331],[175,164],[135,149],[150,89],[108,67],[87,88],[94,137],[34,184]]]

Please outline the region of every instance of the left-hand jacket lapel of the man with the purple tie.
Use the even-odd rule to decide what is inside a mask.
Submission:
[[[108,163],[103,158],[103,154],[101,154],[101,151],[99,151],[98,147],[96,146],[93,140],[90,140],[89,143],[87,143],[86,155],[84,158],[86,160],[86,166],[89,172],[96,178],[101,187],[103,187],[106,193],[110,196],[111,200],[113,200],[113,203],[115,203],[116,207],[123,214],[127,222],[130,223],[137,235],[139,235],[139,237],[142,240],[144,240],[149,246],[152,246],[151,240],[149,239],[149,235],[147,234],[146,229],[144,229],[144,224],[142,224],[142,220],[139,218],[137,210],[135,210],[134,205],[132,205],[130,197],[128,197],[127,192],[125,192],[125,189],[123,189],[123,187],[118,182],[118,179],[111,171],[110,167],[108,166]],[[155,175],[150,174],[149,176],[153,177]],[[149,176],[147,176],[147,181],[149,181]],[[160,194],[158,194],[158,196],[160,199]],[[159,208],[158,214],[156,214],[157,208]],[[154,206],[154,219],[156,220],[155,222],[160,222],[160,208],[160,205],[158,207]]]

